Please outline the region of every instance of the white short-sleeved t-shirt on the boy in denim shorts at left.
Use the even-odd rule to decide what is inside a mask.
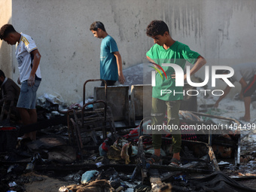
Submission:
[[[32,70],[33,58],[30,54],[32,50],[36,50],[35,41],[29,36],[23,33],[20,34],[20,42],[16,48],[16,58],[18,62],[18,69],[20,71],[20,82],[29,79],[30,72]],[[40,66],[38,66],[35,72],[35,79],[41,80]]]

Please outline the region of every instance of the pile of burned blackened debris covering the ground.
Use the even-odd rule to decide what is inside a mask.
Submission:
[[[172,136],[166,133],[162,136],[163,160],[148,165],[145,160],[154,153],[146,129],[150,118],[118,126],[103,101],[72,105],[67,110],[51,103],[38,107],[38,114],[34,125],[10,124],[8,127],[15,129],[3,130],[2,137],[13,140],[2,141],[13,141],[13,145],[1,151],[1,191],[26,191],[27,184],[39,184],[47,178],[57,178],[59,185],[51,190],[41,186],[42,191],[255,191],[235,181],[255,179],[254,174],[239,176],[239,169],[248,158],[256,157],[255,153],[242,154],[240,163],[237,131],[182,130],[181,167],[168,166]],[[192,111],[180,111],[179,117],[184,127],[217,125],[216,119],[230,125],[240,123]],[[36,141],[16,142],[31,130],[38,131]]]

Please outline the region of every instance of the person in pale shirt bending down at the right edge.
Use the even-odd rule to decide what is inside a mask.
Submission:
[[[251,120],[250,114],[250,104],[251,104],[251,95],[256,90],[256,63],[242,63],[232,67],[234,70],[234,75],[230,78],[230,81],[233,83],[235,81],[239,82],[242,86],[240,92],[240,99],[244,99],[245,102],[245,115],[240,117],[240,120],[249,122]],[[218,70],[216,74],[227,74],[225,70]],[[230,92],[231,87],[227,86],[224,89],[224,94],[220,96],[215,102],[214,107],[218,107],[218,103],[221,102],[221,99],[224,99],[227,96],[227,93]]]

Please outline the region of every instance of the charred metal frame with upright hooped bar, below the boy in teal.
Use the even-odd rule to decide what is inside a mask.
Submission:
[[[90,81],[103,81],[105,83],[105,101],[98,100],[85,103],[86,84]],[[103,139],[107,138],[107,130],[111,131],[113,139],[117,139],[116,130],[112,118],[111,108],[107,105],[107,83],[102,79],[90,79],[84,82],[83,87],[83,107],[80,110],[69,110],[67,112],[67,122],[69,130],[69,140],[76,141],[78,151],[84,148],[82,136],[86,134],[95,143],[95,147],[99,147],[96,139],[96,131],[102,131]],[[103,108],[96,108],[93,110],[86,110],[88,105],[97,105],[102,103]]]

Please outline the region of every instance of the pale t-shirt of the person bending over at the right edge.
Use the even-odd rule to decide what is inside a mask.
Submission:
[[[234,75],[231,78],[231,81],[240,81],[243,78],[245,81],[250,81],[251,78],[256,75],[256,63],[243,63],[236,66],[232,66],[234,70]]]

